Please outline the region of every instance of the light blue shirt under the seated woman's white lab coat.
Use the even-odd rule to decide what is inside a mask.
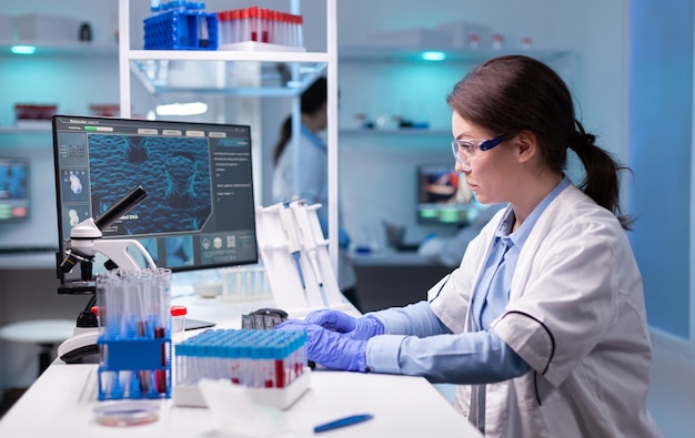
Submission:
[[[426,302],[371,313],[384,325],[384,335],[367,342],[367,367],[374,373],[425,376],[434,383],[462,385],[503,381],[526,373],[530,366],[490,329],[490,323],[510,301],[514,268],[531,230],[568,184],[563,177],[516,232],[511,233],[513,211],[501,222],[472,296],[476,332],[453,334]]]

